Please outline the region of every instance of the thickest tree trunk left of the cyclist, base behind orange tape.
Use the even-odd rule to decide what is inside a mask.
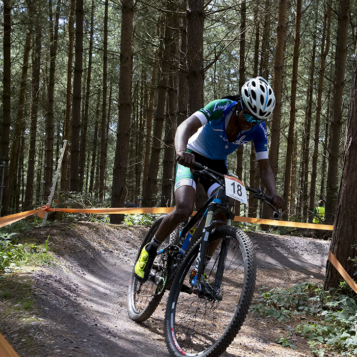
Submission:
[[[112,207],[123,207],[125,200],[132,99],[133,15],[134,0],[123,0],[120,36],[118,129],[113,168]],[[111,223],[120,223],[123,219],[124,215],[111,215],[110,217]]]

